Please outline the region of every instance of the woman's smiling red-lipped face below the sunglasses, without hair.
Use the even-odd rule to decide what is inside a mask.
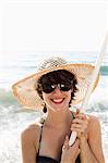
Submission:
[[[63,91],[62,89],[60,90],[60,84],[58,84],[58,86],[59,87],[52,85],[53,90],[51,92],[46,93],[43,91],[43,98],[48,109],[63,111],[69,109],[72,88]]]

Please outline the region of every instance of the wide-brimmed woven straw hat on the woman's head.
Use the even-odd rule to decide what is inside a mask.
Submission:
[[[57,70],[67,70],[75,75],[77,80],[77,91],[75,92],[74,100],[72,100],[72,104],[74,105],[80,103],[86,95],[87,88],[91,83],[91,77],[94,71],[94,66],[91,64],[81,63],[70,64],[61,58],[51,58],[49,60],[46,60],[43,63],[43,65],[38,68],[37,73],[15,83],[12,86],[12,90],[17,101],[26,109],[43,109],[44,101],[36,90],[37,82],[43,75]],[[95,82],[94,89],[98,84],[98,79],[99,75]]]

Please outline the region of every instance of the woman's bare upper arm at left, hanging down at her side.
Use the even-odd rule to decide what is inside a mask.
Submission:
[[[27,128],[21,135],[22,163],[36,163],[34,129]]]

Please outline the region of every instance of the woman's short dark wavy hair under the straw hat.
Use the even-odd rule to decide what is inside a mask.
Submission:
[[[71,92],[71,100],[69,102],[69,106],[71,106],[71,102],[72,100],[74,99],[74,93],[75,91],[77,90],[76,88],[76,84],[77,84],[77,80],[76,80],[76,77],[74,74],[72,74],[71,72],[69,71],[65,71],[65,70],[58,70],[58,71],[53,71],[53,72],[50,72],[50,73],[47,73],[45,75],[43,75],[39,79],[38,79],[38,83],[37,83],[37,92],[39,95],[39,97],[43,99],[43,93],[41,93],[41,84],[43,83],[51,83],[51,84],[59,84],[59,83],[64,83],[64,82],[73,82],[72,84],[72,88],[73,88],[73,91]],[[44,106],[44,112],[46,112],[46,106]]]

